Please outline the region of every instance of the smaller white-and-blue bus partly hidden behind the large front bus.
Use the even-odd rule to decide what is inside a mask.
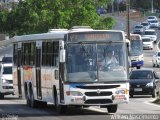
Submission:
[[[129,44],[131,67],[136,67],[137,69],[140,69],[144,65],[143,41],[141,35],[130,34]]]

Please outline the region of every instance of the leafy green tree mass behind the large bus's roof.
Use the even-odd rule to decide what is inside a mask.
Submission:
[[[105,25],[111,28],[112,19],[103,21],[97,14],[98,6],[102,5],[106,6],[106,0],[20,0],[11,11],[0,12],[0,32],[14,36],[47,32],[51,28],[69,29],[75,25],[102,28],[101,22],[107,22],[103,28]]]

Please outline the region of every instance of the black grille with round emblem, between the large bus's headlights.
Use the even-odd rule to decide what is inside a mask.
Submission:
[[[86,96],[110,96],[112,92],[85,92]]]

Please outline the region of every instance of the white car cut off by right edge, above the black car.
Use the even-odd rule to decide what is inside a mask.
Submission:
[[[156,51],[152,57],[153,67],[160,66],[160,51]]]

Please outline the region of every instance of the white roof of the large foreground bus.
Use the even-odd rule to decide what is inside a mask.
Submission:
[[[122,39],[125,39],[124,32],[120,30],[93,30],[93,29],[54,29],[48,33],[40,33],[40,34],[30,34],[30,35],[22,35],[22,36],[15,36],[12,39],[12,42],[25,42],[25,41],[38,41],[38,40],[63,40],[64,35],[67,33],[82,33],[82,32],[113,32],[122,34]]]

